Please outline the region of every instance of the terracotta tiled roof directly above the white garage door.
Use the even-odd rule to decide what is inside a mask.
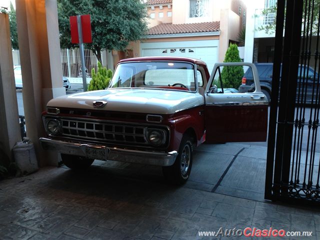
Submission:
[[[219,21],[172,24],[162,23],[149,28],[148,35],[174,34],[174,33],[192,33],[218,31],[220,28]]]

